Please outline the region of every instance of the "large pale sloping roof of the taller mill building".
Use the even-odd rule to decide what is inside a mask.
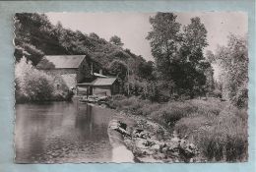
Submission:
[[[79,68],[86,55],[46,55],[37,64],[39,69]]]

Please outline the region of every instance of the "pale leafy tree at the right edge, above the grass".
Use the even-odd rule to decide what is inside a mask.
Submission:
[[[230,34],[227,46],[220,46],[209,57],[220,67],[220,84],[225,99],[237,107],[248,103],[248,47],[246,37]]]

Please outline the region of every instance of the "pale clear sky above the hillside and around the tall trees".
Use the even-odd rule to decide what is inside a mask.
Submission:
[[[231,32],[245,35],[248,32],[247,14],[242,12],[193,12],[175,13],[177,22],[188,25],[193,17],[200,17],[208,30],[208,47],[205,50],[215,51],[218,45],[226,45],[227,35]],[[60,22],[66,29],[81,30],[84,33],[96,32],[106,40],[117,35],[130,49],[146,60],[154,60],[146,36],[152,30],[150,16],[155,13],[46,13],[50,22]]]

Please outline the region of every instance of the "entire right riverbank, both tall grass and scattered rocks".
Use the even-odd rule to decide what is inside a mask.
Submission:
[[[131,139],[124,136],[124,141],[142,162],[247,160],[246,109],[237,109],[217,98],[160,104],[118,95],[108,104],[136,121],[128,126],[132,131]],[[143,133],[138,135],[138,132]],[[148,138],[138,137],[145,135]],[[163,145],[172,147],[164,148]],[[182,151],[189,145],[195,147],[191,146],[193,153],[186,157]],[[158,154],[158,157],[153,154]]]

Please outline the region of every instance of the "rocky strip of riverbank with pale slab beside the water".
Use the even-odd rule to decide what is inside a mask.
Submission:
[[[134,162],[202,162],[196,146],[175,132],[142,116],[120,114],[123,117],[110,121],[108,128],[113,152],[122,149],[119,156],[114,153],[115,162],[132,162],[132,157]]]

